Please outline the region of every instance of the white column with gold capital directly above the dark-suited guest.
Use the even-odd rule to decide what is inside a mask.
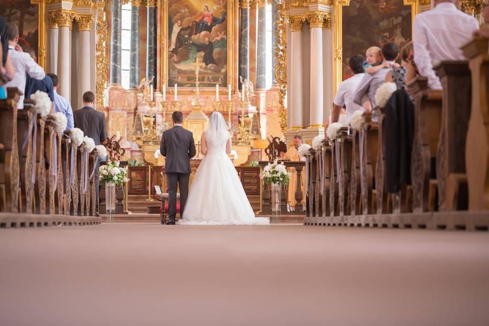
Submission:
[[[90,31],[94,22],[93,15],[78,15],[78,97],[90,91]]]

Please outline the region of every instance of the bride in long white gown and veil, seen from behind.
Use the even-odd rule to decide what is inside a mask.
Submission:
[[[188,193],[180,225],[268,225],[255,218],[231,159],[231,138],[224,117],[210,115],[201,138],[204,158]]]

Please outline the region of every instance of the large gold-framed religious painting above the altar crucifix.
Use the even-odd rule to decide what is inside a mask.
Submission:
[[[225,89],[232,69],[233,34],[232,1],[227,0],[169,0],[162,14],[162,83],[167,88],[196,86],[196,63],[199,87]],[[229,23],[228,23],[229,22]],[[230,66],[231,63],[231,66]]]

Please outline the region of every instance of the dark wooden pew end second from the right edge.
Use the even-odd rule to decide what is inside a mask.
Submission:
[[[465,143],[472,82],[468,61],[442,61],[434,67],[443,86],[442,126],[437,150],[438,209],[468,208]]]

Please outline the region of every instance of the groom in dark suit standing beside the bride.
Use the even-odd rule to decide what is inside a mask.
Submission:
[[[175,111],[172,114],[173,128],[161,135],[159,151],[165,156],[165,175],[168,185],[168,222],[175,225],[177,214],[177,183],[180,187],[180,218],[188,196],[188,181],[192,170],[190,159],[195,156],[194,135],[182,127],[183,114]],[[165,209],[165,207],[163,207]],[[164,221],[161,221],[163,224]]]

